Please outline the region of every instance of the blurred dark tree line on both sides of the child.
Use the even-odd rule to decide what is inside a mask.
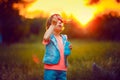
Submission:
[[[21,0],[3,0],[0,2],[0,42],[19,42],[30,35],[40,37],[45,32],[46,18],[26,19],[14,10],[13,3]],[[85,29],[77,20],[66,23],[63,33],[71,39],[117,40],[120,41],[120,15],[111,11],[97,16]]]

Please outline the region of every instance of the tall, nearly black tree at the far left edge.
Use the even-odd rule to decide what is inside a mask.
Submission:
[[[1,32],[3,35],[4,42],[11,42],[17,40],[17,35],[15,34],[15,28],[21,24],[20,17],[18,16],[18,11],[12,8],[14,2],[19,0],[2,0],[0,2],[0,23]]]

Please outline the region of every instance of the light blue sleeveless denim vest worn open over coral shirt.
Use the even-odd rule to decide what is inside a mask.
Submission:
[[[66,35],[61,35],[64,45],[64,58],[65,58],[65,65],[67,66],[67,56],[70,55],[71,50],[69,48],[69,42],[67,40]],[[60,52],[58,48],[58,44],[56,38],[52,34],[50,36],[50,43],[46,45],[46,51],[43,58],[43,62],[45,64],[57,64],[60,60]]]

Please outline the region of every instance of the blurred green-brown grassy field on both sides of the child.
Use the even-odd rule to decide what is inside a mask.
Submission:
[[[68,80],[112,80],[109,75],[120,75],[120,42],[71,40],[71,43]],[[41,42],[0,46],[0,80],[43,80],[44,52]],[[34,62],[33,56],[39,58],[40,64]]]

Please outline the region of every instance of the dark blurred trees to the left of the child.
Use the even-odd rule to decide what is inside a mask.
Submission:
[[[19,15],[19,11],[13,9],[13,3],[23,3],[21,0],[0,1],[0,34],[3,43],[11,44],[19,42],[23,38],[41,33],[45,26],[44,18],[25,19]]]

